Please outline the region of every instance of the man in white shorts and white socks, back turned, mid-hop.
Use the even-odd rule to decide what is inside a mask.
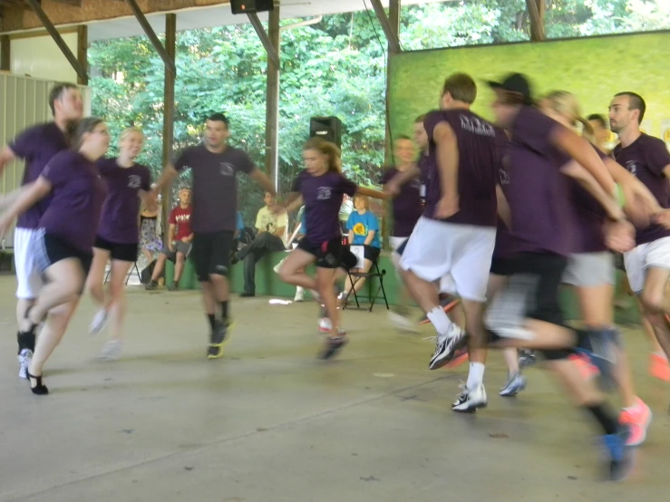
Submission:
[[[496,185],[500,169],[500,131],[470,111],[477,86],[469,75],[456,73],[442,89],[442,110],[426,116],[429,153],[436,165],[426,177],[426,202],[405,246],[400,265],[414,299],[428,315],[437,335],[430,369],[451,361],[465,333],[444,312],[442,291],[461,297],[471,333],[471,375],[454,410],[486,405],[483,388],[485,339],[482,312],[489,282],[497,223]],[[397,192],[393,181],[390,191]]]

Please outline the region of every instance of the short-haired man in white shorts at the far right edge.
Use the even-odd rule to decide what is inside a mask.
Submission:
[[[670,153],[665,142],[640,130],[646,111],[645,100],[635,92],[619,92],[609,105],[609,124],[618,134],[614,159],[635,175],[652,192],[661,208],[670,208]],[[657,221],[636,228],[636,247],[624,255],[628,283],[645,309],[658,343],[670,357],[670,329],[665,314],[670,313],[670,298],[665,286],[670,279],[670,230],[668,211],[658,213]],[[665,226],[660,225],[663,222]]]

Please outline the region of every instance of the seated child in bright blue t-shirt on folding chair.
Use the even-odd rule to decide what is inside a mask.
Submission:
[[[346,227],[349,230],[349,244],[364,246],[363,268],[351,268],[350,273],[370,272],[370,268],[377,261],[382,250],[382,241],[379,238],[379,220],[370,210],[370,198],[362,195],[354,196],[355,210],[349,215]],[[353,282],[352,282],[353,281]],[[341,303],[345,304],[352,289],[358,293],[365,283],[365,277],[355,277],[346,281],[345,292],[341,294]]]

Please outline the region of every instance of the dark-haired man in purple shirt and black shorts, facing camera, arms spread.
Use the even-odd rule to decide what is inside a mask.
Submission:
[[[257,169],[248,154],[228,146],[228,119],[222,113],[209,116],[205,141],[180,153],[174,165],[168,165],[156,190],[183,169],[193,174],[193,230],[191,257],[202,288],[205,313],[211,334],[208,357],[223,355],[228,340],[228,260],[237,223],[238,172],[244,172],[273,197],[275,188],[267,176]]]

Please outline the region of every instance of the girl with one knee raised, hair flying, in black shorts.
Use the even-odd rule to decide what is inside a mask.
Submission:
[[[357,187],[342,174],[340,150],[321,138],[307,140],[303,147],[305,169],[293,183],[286,210],[291,212],[305,205],[306,236],[300,241],[279,269],[281,279],[290,285],[316,291],[331,321],[330,333],[320,358],[332,358],[347,343],[340,331],[337,298],[333,283],[342,264],[342,230],[338,213],[345,195],[359,193],[385,198],[382,192]],[[316,277],[306,275],[307,265],[316,263]]]

